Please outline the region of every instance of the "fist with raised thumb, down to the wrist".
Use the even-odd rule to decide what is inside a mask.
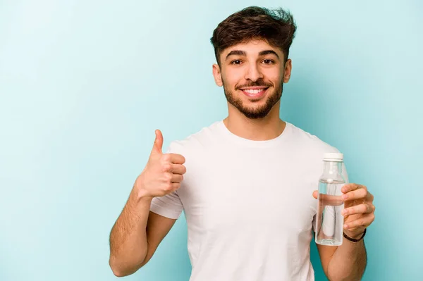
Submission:
[[[163,154],[163,135],[156,130],[156,139],[147,165],[135,181],[138,196],[156,197],[169,194],[180,187],[186,168],[185,157]]]

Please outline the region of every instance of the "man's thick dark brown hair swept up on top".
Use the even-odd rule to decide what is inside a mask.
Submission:
[[[271,46],[280,48],[286,61],[296,29],[293,15],[289,11],[250,6],[229,15],[219,23],[210,42],[214,46],[219,64],[219,56],[224,49],[251,39],[262,39]]]

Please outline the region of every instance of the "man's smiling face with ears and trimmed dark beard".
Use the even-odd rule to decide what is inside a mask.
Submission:
[[[216,84],[226,99],[247,118],[264,118],[281,99],[283,83],[290,77],[291,61],[283,63],[281,49],[263,40],[231,46],[213,65]]]

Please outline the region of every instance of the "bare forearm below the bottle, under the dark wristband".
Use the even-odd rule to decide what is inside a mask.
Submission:
[[[353,243],[343,239],[341,246],[317,244],[321,266],[331,281],[361,280],[367,264],[364,240]]]

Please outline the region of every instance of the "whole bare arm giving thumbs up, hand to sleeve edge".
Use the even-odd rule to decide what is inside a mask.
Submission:
[[[156,140],[147,166],[135,180],[128,201],[110,233],[109,265],[114,275],[126,276],[144,266],[176,220],[149,211],[152,199],[176,191],[186,172],[185,158],[162,154],[163,136]]]

